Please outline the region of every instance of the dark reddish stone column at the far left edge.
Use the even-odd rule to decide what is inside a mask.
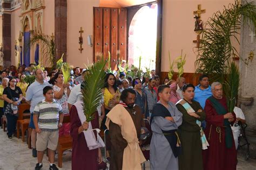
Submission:
[[[11,8],[10,2],[2,4],[2,35],[3,35],[3,67],[11,65],[11,13],[6,11]]]

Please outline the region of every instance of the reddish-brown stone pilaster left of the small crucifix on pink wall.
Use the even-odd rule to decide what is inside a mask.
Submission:
[[[55,43],[57,59],[64,53],[66,61],[67,0],[55,0]]]

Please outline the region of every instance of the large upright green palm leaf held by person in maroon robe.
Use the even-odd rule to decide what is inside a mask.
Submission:
[[[89,74],[84,77],[84,82],[82,83],[82,94],[83,94],[83,110],[86,117],[86,122],[92,121],[95,117],[95,113],[100,100],[102,99],[102,89],[104,87],[104,68],[107,63],[102,57],[101,60],[96,62],[89,69]]]

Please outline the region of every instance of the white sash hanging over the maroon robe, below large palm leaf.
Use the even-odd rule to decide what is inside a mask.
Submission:
[[[86,121],[86,117],[84,115],[82,101],[79,100],[73,105],[75,105],[75,107],[77,108],[78,117],[80,119],[81,124],[83,124]],[[93,130],[96,130],[97,132],[97,139],[95,138]],[[83,131],[85,141],[87,143],[87,146],[89,147],[89,150],[95,150],[96,148],[99,147],[105,147],[104,141],[99,136],[99,132],[99,129],[92,129],[91,122],[89,122],[89,128],[86,131]]]

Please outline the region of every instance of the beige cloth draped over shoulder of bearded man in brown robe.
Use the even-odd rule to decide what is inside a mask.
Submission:
[[[137,131],[129,112],[121,104],[117,104],[107,114],[105,123],[107,129],[109,129],[110,121],[120,126],[122,136],[128,143],[124,149],[122,169],[142,169],[140,164],[146,159],[140,150]]]

